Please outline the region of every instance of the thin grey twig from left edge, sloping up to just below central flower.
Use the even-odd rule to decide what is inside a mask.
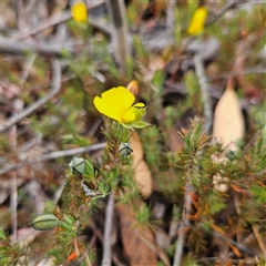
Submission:
[[[9,171],[12,170],[18,170],[21,168],[25,165],[30,165],[30,164],[35,164],[42,161],[48,161],[48,160],[52,160],[52,158],[58,158],[58,157],[66,157],[66,156],[71,156],[71,155],[75,155],[75,154],[80,154],[80,153],[84,153],[84,152],[92,152],[92,151],[96,151],[100,149],[105,147],[106,143],[99,143],[99,144],[94,144],[91,146],[84,146],[84,147],[75,147],[75,149],[70,149],[70,150],[65,150],[65,151],[58,151],[58,152],[52,152],[49,154],[43,154],[40,155],[40,157],[33,158],[33,160],[29,160],[19,164],[12,164],[7,166],[6,168],[2,168],[0,171],[0,175],[6,174]]]

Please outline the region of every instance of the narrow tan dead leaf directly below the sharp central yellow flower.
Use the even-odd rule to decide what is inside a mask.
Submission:
[[[133,150],[133,168],[135,171],[135,182],[143,196],[149,197],[152,194],[152,173],[143,160],[143,146],[140,136],[134,131],[131,135],[131,147]]]

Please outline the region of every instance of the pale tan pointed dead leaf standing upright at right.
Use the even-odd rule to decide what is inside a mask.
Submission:
[[[213,137],[222,141],[224,147],[236,151],[236,142],[244,137],[245,123],[235,90],[228,83],[214,113]]]

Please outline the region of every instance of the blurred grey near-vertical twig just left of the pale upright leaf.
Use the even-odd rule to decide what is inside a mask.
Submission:
[[[195,63],[195,70],[196,70],[196,74],[197,74],[198,82],[201,85],[201,91],[202,91],[204,120],[205,120],[204,131],[207,134],[211,134],[213,112],[212,112],[212,105],[209,100],[209,86],[208,86],[207,78],[205,75],[202,58],[200,55],[195,55],[194,63]]]

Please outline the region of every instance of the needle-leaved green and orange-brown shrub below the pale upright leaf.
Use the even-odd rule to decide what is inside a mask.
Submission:
[[[180,134],[184,145],[177,152],[176,167],[182,171],[185,185],[173,265],[192,265],[192,260],[184,260],[201,258],[215,239],[222,239],[221,248],[228,245],[237,250],[238,257],[260,256],[265,262],[262,254],[232,239],[237,231],[260,228],[265,234],[262,224],[266,206],[266,142],[262,132],[236,153],[207,136],[200,119]],[[221,177],[215,180],[217,174]]]

